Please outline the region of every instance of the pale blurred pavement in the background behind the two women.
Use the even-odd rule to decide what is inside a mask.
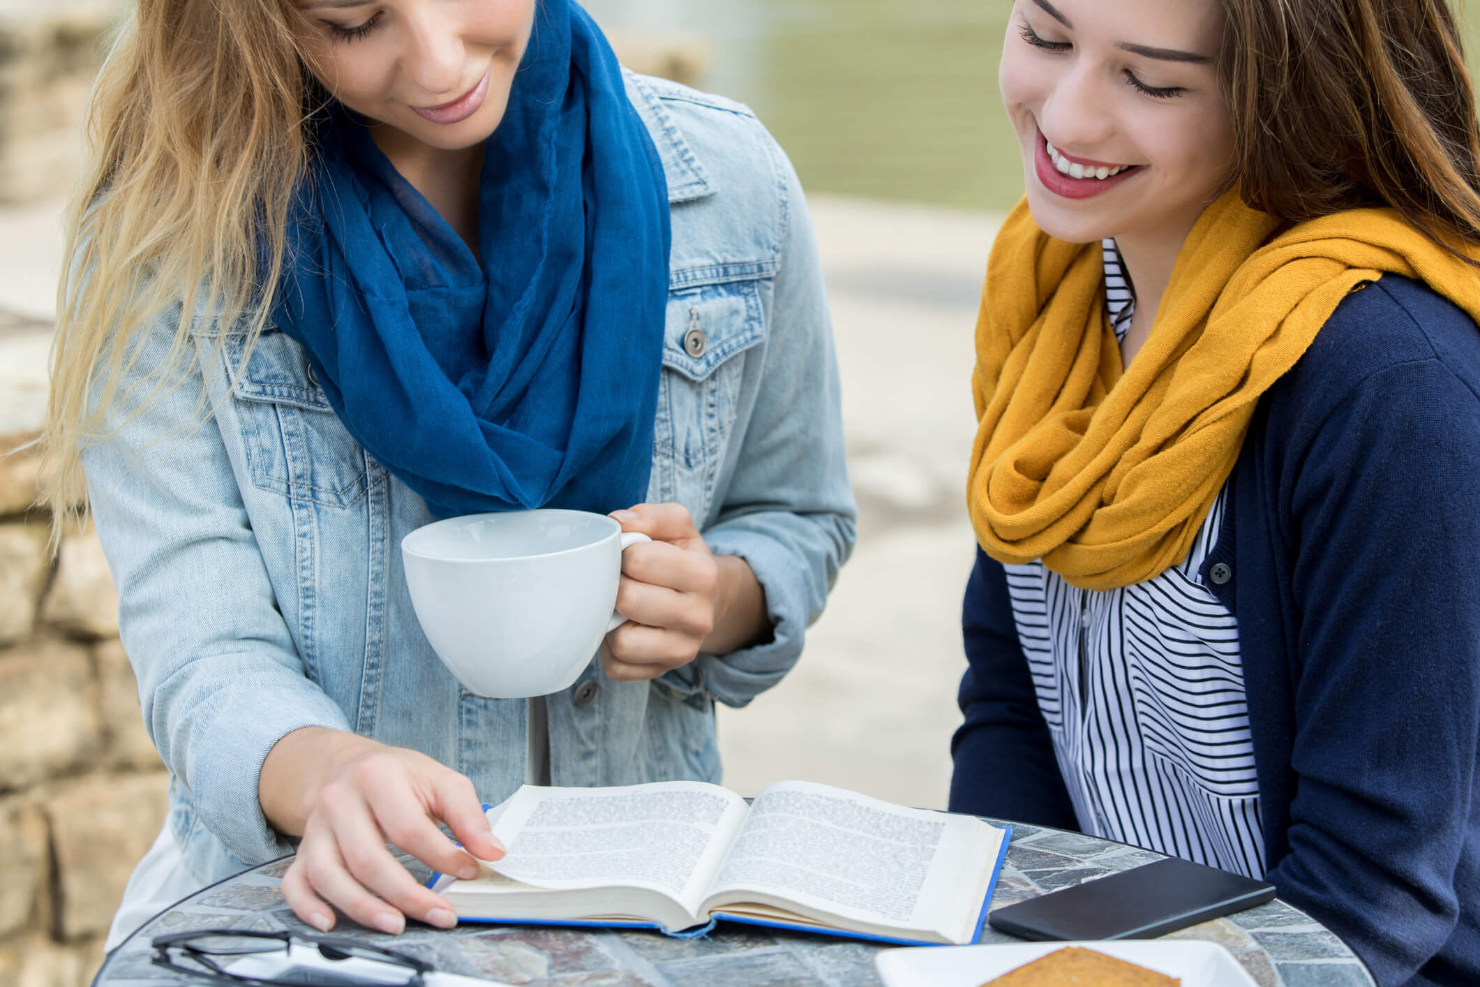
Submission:
[[[842,368],[858,546],[796,670],[747,709],[722,709],[725,783],[781,778],[944,806],[953,695],[965,667],[961,590],[972,329],[999,219],[829,195],[810,200]],[[49,320],[61,201],[0,209],[0,312]],[[46,337],[0,337],[0,389],[34,420]],[[3,404],[3,402],[0,402]]]

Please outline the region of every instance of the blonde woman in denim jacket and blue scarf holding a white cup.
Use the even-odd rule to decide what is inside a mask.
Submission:
[[[719,777],[713,701],[796,660],[854,537],[796,176],[743,107],[625,74],[571,0],[139,0],[98,86],[49,416],[170,817],[115,919],[297,851],[386,932],[496,855],[480,799]],[[545,700],[459,690],[398,540],[568,506],[654,542]],[[337,910],[337,912],[336,912]]]

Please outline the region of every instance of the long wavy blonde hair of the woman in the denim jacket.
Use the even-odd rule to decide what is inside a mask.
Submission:
[[[147,401],[184,370],[194,312],[244,324],[249,346],[262,331],[308,163],[309,74],[286,4],[136,0],[104,62],[67,216],[40,438],[53,540],[78,512],[80,453],[104,434],[142,331],[179,308]]]

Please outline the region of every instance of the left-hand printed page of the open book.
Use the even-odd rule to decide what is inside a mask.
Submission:
[[[527,784],[500,808],[493,833],[509,852],[484,861],[490,870],[536,888],[647,888],[694,913],[746,812],[740,796],[700,781]]]

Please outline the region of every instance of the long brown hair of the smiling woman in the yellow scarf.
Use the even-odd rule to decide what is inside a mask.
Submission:
[[[1480,244],[1480,132],[1447,0],[1221,0],[1245,201],[1291,220],[1391,206]]]

